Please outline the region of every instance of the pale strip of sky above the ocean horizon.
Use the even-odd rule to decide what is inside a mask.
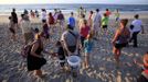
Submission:
[[[29,3],[148,4],[148,0],[0,0],[0,4],[29,4]]]

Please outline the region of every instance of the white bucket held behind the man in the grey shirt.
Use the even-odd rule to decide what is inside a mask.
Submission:
[[[81,58],[78,56],[70,56],[67,57],[67,63],[73,68],[77,68],[81,66]]]

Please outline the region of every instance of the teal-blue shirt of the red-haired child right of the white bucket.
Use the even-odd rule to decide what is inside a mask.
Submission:
[[[93,40],[85,39],[84,40],[84,50],[85,52],[91,52],[93,48]]]

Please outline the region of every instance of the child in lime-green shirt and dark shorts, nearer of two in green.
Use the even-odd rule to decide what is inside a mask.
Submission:
[[[104,13],[104,16],[102,19],[102,27],[103,31],[107,34],[107,26],[108,26],[108,16],[106,13]]]

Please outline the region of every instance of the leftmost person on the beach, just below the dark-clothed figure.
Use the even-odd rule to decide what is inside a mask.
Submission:
[[[9,30],[11,32],[11,39],[15,40],[15,28],[11,16],[9,16]]]

